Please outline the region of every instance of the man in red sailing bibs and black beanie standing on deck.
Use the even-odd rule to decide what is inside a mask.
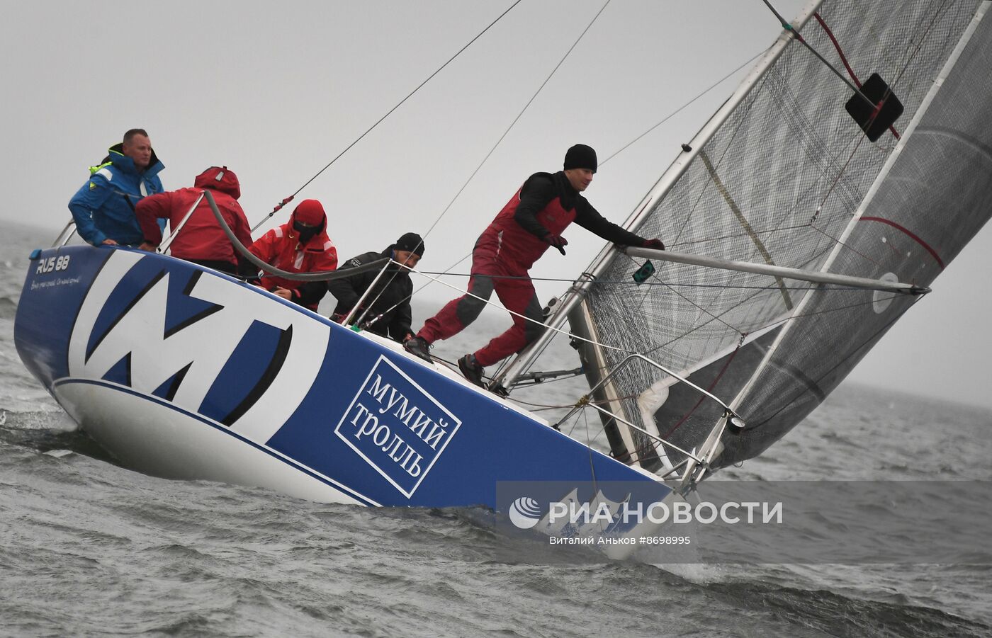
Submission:
[[[564,255],[568,242],[561,233],[568,224],[575,222],[615,244],[664,250],[661,240],[644,239],[606,220],[579,194],[595,172],[596,152],[577,144],[565,154],[564,170],[528,177],[475,243],[469,294],[449,301],[428,319],[417,336],[404,344],[407,351],[432,361],[428,352],[431,344],[454,336],[475,321],[495,290],[506,309],[517,313],[513,326],[481,350],[458,360],[465,377],[484,386],[486,366],[520,352],[544,332],[541,303],[528,270],[549,247]]]

